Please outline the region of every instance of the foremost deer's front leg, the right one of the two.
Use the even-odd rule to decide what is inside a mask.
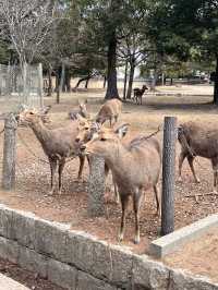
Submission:
[[[135,215],[135,238],[134,238],[135,244],[140,243],[140,209],[141,209],[141,204],[142,204],[142,197],[143,197],[142,190],[138,190],[133,195],[133,209],[134,209],[134,215]]]

